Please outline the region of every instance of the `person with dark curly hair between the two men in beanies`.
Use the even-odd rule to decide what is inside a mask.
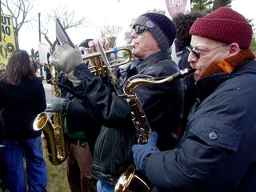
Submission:
[[[202,18],[202,13],[188,13],[188,14],[176,14],[173,18],[174,24],[177,26],[177,36],[174,40],[176,55],[178,58],[178,67],[180,70],[190,68],[190,63],[187,58],[190,54],[191,35],[189,34],[190,27],[197,18]],[[197,90],[194,84],[193,75],[184,78],[185,93],[184,93],[184,106],[183,106],[183,117],[182,117],[182,130],[181,134],[186,127],[187,117],[190,113],[190,108],[194,103],[194,99],[197,97]]]

